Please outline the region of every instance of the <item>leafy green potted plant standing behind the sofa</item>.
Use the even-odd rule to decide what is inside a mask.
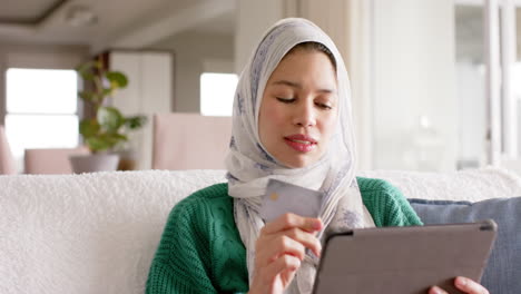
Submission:
[[[128,78],[120,71],[104,68],[100,60],[88,61],[77,67],[85,85],[89,85],[78,97],[85,101],[90,115],[81,119],[79,133],[91,155],[70,158],[75,173],[116,170],[119,156],[116,147],[128,141],[128,131],[137,130],[146,122],[146,116],[124,116],[116,107],[107,105],[107,98],[128,85]]]

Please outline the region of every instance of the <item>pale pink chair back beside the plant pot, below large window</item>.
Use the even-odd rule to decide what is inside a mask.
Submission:
[[[52,149],[26,149],[24,173],[39,175],[72,174],[70,155],[87,155],[87,147],[52,148]]]

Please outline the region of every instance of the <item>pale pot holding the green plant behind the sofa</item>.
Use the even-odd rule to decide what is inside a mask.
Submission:
[[[75,174],[114,171],[118,167],[117,154],[71,155],[69,157]]]

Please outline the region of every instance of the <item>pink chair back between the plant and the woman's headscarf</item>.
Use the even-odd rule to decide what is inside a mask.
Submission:
[[[223,169],[230,136],[230,117],[155,115],[153,168]]]

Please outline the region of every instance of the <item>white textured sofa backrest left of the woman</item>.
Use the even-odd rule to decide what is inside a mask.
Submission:
[[[170,208],[224,171],[0,177],[0,293],[144,293]]]

